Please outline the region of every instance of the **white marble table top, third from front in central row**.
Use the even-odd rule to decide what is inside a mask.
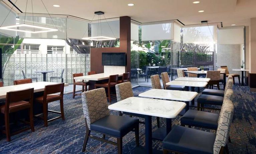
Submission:
[[[207,82],[177,81],[177,80],[173,80],[166,83],[166,85],[188,86],[188,87],[205,87],[207,84],[208,84]]]

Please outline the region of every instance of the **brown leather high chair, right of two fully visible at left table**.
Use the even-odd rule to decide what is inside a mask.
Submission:
[[[44,87],[43,96],[39,96],[35,98],[35,102],[43,104],[43,119],[44,119],[45,127],[48,126],[48,122],[56,120],[58,118],[62,118],[62,120],[65,120],[64,107],[63,107],[63,92],[64,92],[64,83],[48,85]],[[56,94],[56,93],[60,93],[60,94]],[[60,112],[48,110],[48,103],[54,102],[57,100],[60,101]],[[61,116],[48,120],[48,112],[61,114]]]

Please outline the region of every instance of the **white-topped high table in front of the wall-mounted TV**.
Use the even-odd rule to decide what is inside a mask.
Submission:
[[[85,76],[78,76],[74,77],[75,80],[87,80],[89,81],[90,90],[94,89],[95,83],[101,83],[104,80],[109,79],[110,75],[115,74],[109,74],[109,73],[99,73],[99,74],[93,74],[93,75],[85,75]],[[118,77],[122,76],[123,74],[118,74]]]

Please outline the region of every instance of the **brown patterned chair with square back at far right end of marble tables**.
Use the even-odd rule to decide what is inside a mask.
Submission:
[[[220,90],[220,71],[207,71],[206,78],[211,79],[208,82],[207,87],[209,86],[210,89],[213,89],[213,85],[217,85],[218,89]]]

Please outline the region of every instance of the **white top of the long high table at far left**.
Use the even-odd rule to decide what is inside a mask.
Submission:
[[[9,91],[16,91],[16,90],[23,90],[28,88],[34,88],[34,92],[44,91],[44,87],[47,85],[58,84],[57,82],[33,82],[33,83],[26,83],[20,85],[12,85],[12,86],[5,86],[0,87],[0,99],[6,97],[6,93]],[[65,83],[65,87],[68,86],[68,83]]]

